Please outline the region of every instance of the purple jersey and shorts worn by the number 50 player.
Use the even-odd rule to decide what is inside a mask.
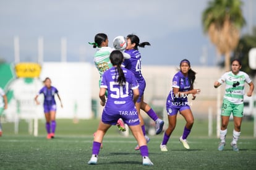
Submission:
[[[108,90],[108,100],[103,110],[101,121],[105,124],[115,125],[122,118],[127,125],[139,125],[139,116],[132,98],[132,91],[139,87],[134,74],[122,68],[126,83],[122,86],[117,83],[116,67],[106,70],[101,81],[101,88]]]

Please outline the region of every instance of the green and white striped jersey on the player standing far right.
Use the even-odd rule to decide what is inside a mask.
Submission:
[[[224,99],[234,103],[242,104],[244,100],[244,84],[252,82],[249,75],[239,71],[238,74],[233,74],[232,71],[226,72],[218,80],[219,83],[226,83]]]

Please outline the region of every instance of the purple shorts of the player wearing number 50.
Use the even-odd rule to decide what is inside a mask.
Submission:
[[[135,106],[132,108],[120,106],[119,108],[106,108],[103,109],[101,121],[105,124],[116,125],[119,118],[122,118],[127,125],[139,125],[140,120]]]

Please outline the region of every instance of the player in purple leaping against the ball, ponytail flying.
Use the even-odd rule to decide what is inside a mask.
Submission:
[[[156,134],[160,134],[163,131],[164,121],[159,119],[159,117],[157,116],[155,111],[153,111],[153,109],[151,109],[150,106],[147,103],[145,103],[145,101],[144,101],[143,96],[144,96],[144,91],[146,88],[146,82],[145,82],[145,79],[143,78],[142,72],[141,72],[142,57],[138,50],[138,46],[144,47],[145,45],[150,45],[150,43],[148,43],[148,42],[140,43],[140,39],[137,35],[133,35],[133,34],[127,35],[127,48],[126,48],[126,51],[124,51],[124,53],[130,54],[130,59],[126,59],[123,62],[123,65],[126,67],[126,69],[129,69],[134,73],[137,81],[139,82],[140,96],[139,96],[139,99],[136,101],[135,106],[139,113],[140,125],[142,126],[143,134],[145,135],[147,142],[149,142],[150,139],[146,135],[144,121],[143,121],[142,116],[140,115],[140,109],[145,111],[145,113],[147,113],[148,116],[150,116],[150,118],[155,121]],[[136,146],[135,150],[139,150],[139,146]]]

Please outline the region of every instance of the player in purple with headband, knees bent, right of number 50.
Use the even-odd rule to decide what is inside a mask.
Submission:
[[[189,145],[186,139],[194,124],[194,116],[190,109],[189,102],[187,101],[187,96],[192,94],[192,100],[195,100],[195,95],[200,93],[200,89],[194,89],[193,87],[195,72],[190,68],[190,62],[187,59],[183,59],[180,62],[179,67],[179,72],[173,77],[173,88],[166,101],[169,126],[164,133],[163,141],[160,145],[161,151],[168,151],[166,144],[175,129],[178,111],[186,120],[183,135],[179,138],[179,141],[183,144],[184,148],[189,150]]]

